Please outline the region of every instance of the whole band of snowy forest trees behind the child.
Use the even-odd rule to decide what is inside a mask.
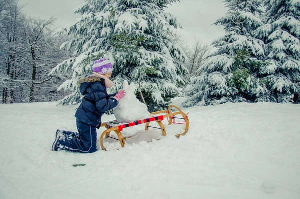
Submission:
[[[114,63],[110,92],[124,79],[134,82],[150,110],[175,96],[186,96],[186,107],[299,103],[299,1],[226,0],[227,13],[214,23],[224,32],[212,43],[181,37],[180,23],[165,11],[172,4],[181,2],[88,0],[75,10],[78,19],[57,31],[55,19],[25,15],[26,5],[0,0],[1,103],[80,102],[76,81],[97,57]],[[194,26],[197,20],[203,19]]]

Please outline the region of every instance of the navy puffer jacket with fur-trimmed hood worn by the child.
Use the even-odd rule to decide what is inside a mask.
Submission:
[[[116,93],[108,95],[104,79],[89,77],[78,81],[81,95],[84,95],[75,117],[96,128],[101,125],[101,116],[106,111],[116,107],[118,101],[112,98]]]

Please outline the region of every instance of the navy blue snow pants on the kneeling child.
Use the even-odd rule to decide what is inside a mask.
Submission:
[[[97,150],[97,132],[94,126],[76,119],[78,132],[61,130],[58,146],[60,150],[79,153],[92,153]]]

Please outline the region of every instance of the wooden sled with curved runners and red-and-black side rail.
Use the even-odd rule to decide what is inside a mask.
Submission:
[[[171,112],[171,108],[175,108],[177,109],[178,111],[177,112]],[[166,113],[165,115],[159,115],[159,116],[154,116],[154,115],[157,115],[157,114],[162,114],[162,113]],[[189,125],[189,122],[188,122],[188,118],[187,118],[187,115],[185,113],[183,113],[181,111],[181,109],[175,105],[170,105],[168,107],[168,110],[161,110],[161,111],[156,111],[156,112],[152,112],[150,113],[150,115],[153,117],[150,117],[150,118],[146,118],[146,119],[142,119],[142,120],[137,120],[137,121],[134,121],[134,122],[129,122],[129,123],[125,123],[125,124],[120,124],[120,125],[117,125],[117,126],[111,126],[109,125],[110,122],[114,122],[114,121],[110,121],[110,122],[104,122],[101,124],[101,127],[104,126],[106,128],[106,130],[104,130],[100,136],[100,146],[103,150],[106,150],[106,148],[104,147],[103,145],[103,138],[104,138],[104,135],[105,135],[105,138],[107,138],[109,135],[110,135],[110,132],[111,131],[114,131],[115,134],[117,135],[118,137],[118,140],[121,144],[121,146],[123,147],[124,144],[125,144],[125,139],[127,137],[123,137],[121,131],[123,130],[123,128],[127,128],[127,127],[130,127],[130,126],[135,126],[135,125],[138,125],[138,124],[143,124],[145,123],[145,130],[148,130],[149,127],[149,123],[152,122],[152,121],[155,121],[158,123],[160,129],[161,129],[161,134],[163,136],[166,135],[166,132],[165,132],[165,128],[164,128],[164,125],[162,124],[162,120],[166,117],[168,117],[168,125],[170,125],[172,122],[175,123],[175,119],[177,117],[175,117],[175,115],[181,115],[182,118],[179,118],[179,119],[183,119],[185,122],[185,128],[184,128],[184,132],[183,133],[179,133],[179,134],[176,134],[175,136],[178,138],[180,135],[184,135],[186,132],[187,132],[187,129],[188,129],[188,125]]]

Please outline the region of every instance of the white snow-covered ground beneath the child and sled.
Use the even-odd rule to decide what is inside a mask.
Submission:
[[[55,105],[0,104],[0,198],[300,198],[300,105],[183,108],[179,139],[184,124],[152,142],[159,130],[138,125],[125,147],[109,138],[92,154],[50,150],[57,128],[76,130],[77,105]]]

